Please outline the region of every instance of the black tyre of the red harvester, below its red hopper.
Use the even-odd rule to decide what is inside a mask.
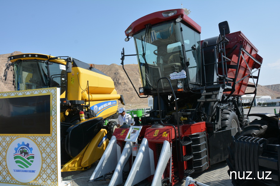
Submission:
[[[231,109],[225,109],[222,112],[221,129],[219,131],[235,128],[235,133],[238,132],[239,121],[236,113]]]

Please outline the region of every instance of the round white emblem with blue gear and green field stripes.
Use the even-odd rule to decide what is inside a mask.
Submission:
[[[21,183],[33,181],[42,168],[41,152],[32,139],[17,138],[9,145],[6,154],[7,168]]]

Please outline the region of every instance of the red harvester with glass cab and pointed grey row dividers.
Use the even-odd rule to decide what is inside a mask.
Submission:
[[[154,98],[153,110],[141,117],[136,157],[136,146],[125,141],[129,126],[123,125],[90,181],[113,172],[110,186],[144,179],[174,185],[226,160],[231,136],[249,124],[241,96],[247,86],[256,94],[263,59],[242,32],[230,33],[226,21],[219,30],[202,41],[201,27],[184,9],[158,11],[128,26],[125,41],[134,40],[142,80],[139,93],[134,89],[139,97]],[[123,67],[125,56],[131,55],[123,49]]]

